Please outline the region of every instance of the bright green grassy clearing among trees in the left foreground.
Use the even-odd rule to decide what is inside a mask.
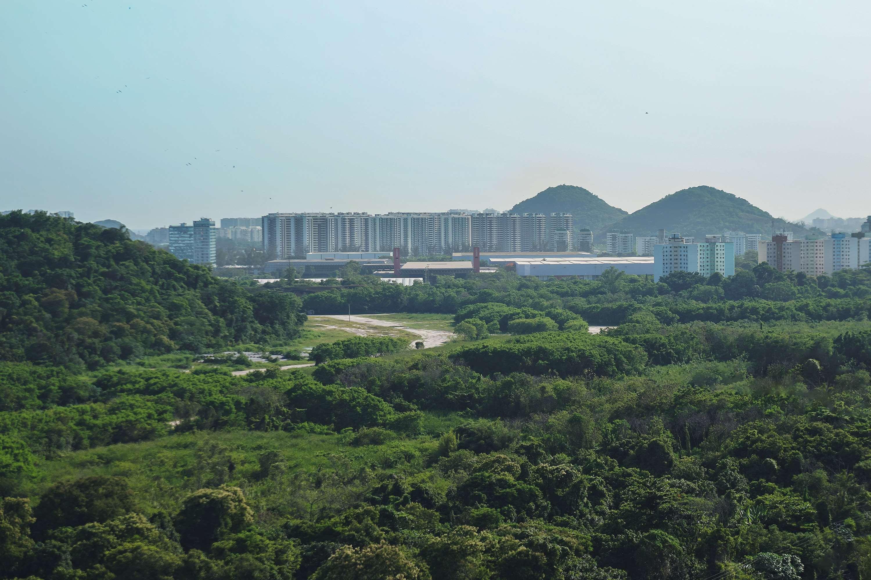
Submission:
[[[411,475],[429,464],[437,437],[463,423],[457,414],[427,413],[425,434],[400,437],[381,445],[352,444],[351,434],[282,431],[198,431],[141,443],[75,451],[40,464],[45,477],[27,491],[38,497],[53,483],[88,476],[126,477],[139,509],[175,511],[194,490],[219,483],[240,486],[249,501],[266,507],[287,501],[300,478],[316,470],[351,474],[368,470]],[[260,456],[273,452],[278,464],[267,477]],[[229,468],[229,469],[228,469]]]

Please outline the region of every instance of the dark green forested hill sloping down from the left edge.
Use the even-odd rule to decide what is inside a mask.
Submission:
[[[123,230],[44,213],[0,217],[0,360],[93,369],[290,338],[299,312],[296,297],[219,280]]]

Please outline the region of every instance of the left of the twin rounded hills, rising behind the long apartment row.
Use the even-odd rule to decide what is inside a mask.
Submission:
[[[517,203],[511,211],[516,213],[570,212],[575,216],[577,229],[598,231],[628,215],[606,203],[601,197],[577,185],[557,185]]]

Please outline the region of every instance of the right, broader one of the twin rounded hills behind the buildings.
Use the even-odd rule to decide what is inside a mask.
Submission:
[[[771,221],[770,213],[746,199],[708,185],[697,185],[676,191],[616,223],[607,224],[607,230],[630,231],[636,236],[650,235],[659,228],[695,237],[721,234],[725,230],[771,236]],[[796,236],[811,233],[811,229],[782,219],[775,219],[774,227],[793,231]],[[604,237],[604,233],[604,230],[597,231],[598,237]]]

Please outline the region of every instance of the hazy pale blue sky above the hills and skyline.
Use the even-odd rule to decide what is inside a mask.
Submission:
[[[868,22],[868,0],[3,0],[0,209],[148,228],[571,183],[632,211],[706,184],[865,216]]]

